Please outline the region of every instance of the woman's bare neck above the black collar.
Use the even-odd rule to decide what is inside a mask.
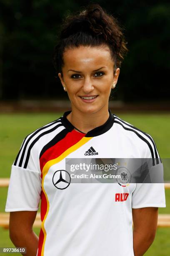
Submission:
[[[73,126],[83,133],[87,133],[98,126],[103,125],[108,118],[108,106],[101,108],[95,113],[84,113],[80,110],[72,108],[72,112],[67,115],[67,119],[70,121],[70,123],[72,123]]]

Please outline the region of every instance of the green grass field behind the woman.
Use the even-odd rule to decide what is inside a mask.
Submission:
[[[112,111],[112,113],[115,113]],[[10,177],[10,170],[23,139],[37,128],[56,120],[62,113],[0,114],[0,177]],[[170,158],[170,114],[119,114],[118,117],[149,133],[158,148],[161,158]],[[159,213],[170,214],[170,189],[165,190],[166,208]],[[0,212],[4,212],[7,188],[0,188]],[[39,210],[40,211],[40,210]],[[34,228],[37,236],[40,228]],[[9,230],[0,228],[0,247],[13,246]],[[2,255],[2,254],[1,254]],[[13,255],[13,254],[10,254]],[[16,254],[14,254],[16,255]],[[170,255],[170,228],[158,228],[155,241],[146,256]]]

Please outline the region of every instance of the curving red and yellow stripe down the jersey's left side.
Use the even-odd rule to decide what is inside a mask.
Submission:
[[[72,152],[80,148],[82,145],[87,143],[91,138],[93,137],[85,137],[85,134],[77,133],[75,130],[72,130],[71,132],[68,132],[67,135],[61,140],[59,140],[59,138],[55,138],[55,140],[57,140],[58,142],[55,145],[48,148],[40,158],[40,166],[41,166],[40,168],[42,171],[42,197],[41,197],[42,198],[42,201],[41,201],[42,232],[40,231],[37,256],[44,255],[44,246],[45,246],[45,240],[47,236],[44,224],[49,211],[49,201],[44,189],[45,175],[47,174],[48,170],[52,165],[62,161],[62,159],[64,159],[69,154],[71,154]],[[52,143],[54,143],[54,141]],[[49,145],[51,144],[49,143]]]

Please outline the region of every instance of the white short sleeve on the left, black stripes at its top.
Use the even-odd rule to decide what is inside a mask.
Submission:
[[[11,166],[5,212],[37,211],[41,194],[38,141],[27,136]]]

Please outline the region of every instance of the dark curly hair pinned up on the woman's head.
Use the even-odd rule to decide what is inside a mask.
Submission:
[[[53,64],[57,72],[62,74],[65,49],[83,46],[109,46],[111,57],[115,63],[114,72],[121,66],[127,53],[122,28],[117,20],[107,14],[99,4],[90,4],[78,14],[67,16],[62,23],[59,42],[54,48]]]

